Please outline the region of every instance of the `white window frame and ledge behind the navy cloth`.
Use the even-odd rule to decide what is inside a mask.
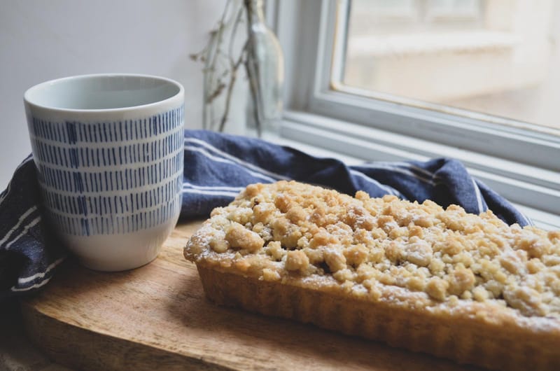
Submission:
[[[330,71],[339,70],[332,51],[341,48],[334,34],[344,31],[345,22],[337,6],[344,3],[281,0],[267,6],[286,64],[281,137],[368,161],[456,158],[524,211],[534,209],[540,219],[560,215],[558,130],[332,89]],[[544,222],[560,228],[560,218]]]

